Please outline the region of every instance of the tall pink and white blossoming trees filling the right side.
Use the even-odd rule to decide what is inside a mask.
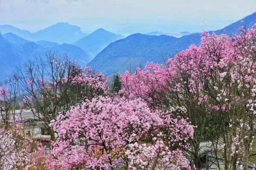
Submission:
[[[239,164],[247,169],[256,115],[255,59],[256,25],[241,28],[235,37],[204,32],[200,46],[191,45],[165,66],[149,63],[134,74],[126,72],[122,94],[140,97],[154,110],[184,106],[184,116],[197,126],[187,151],[192,164],[199,166],[200,141],[211,129],[208,139],[216,159],[224,159],[224,169]],[[221,162],[216,164],[221,169]]]

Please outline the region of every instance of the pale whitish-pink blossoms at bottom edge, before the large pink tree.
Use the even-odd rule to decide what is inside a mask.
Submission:
[[[128,145],[125,152],[130,163],[131,170],[190,170],[191,167],[183,156],[182,150],[170,150],[163,141],[156,141],[152,144],[134,144]]]

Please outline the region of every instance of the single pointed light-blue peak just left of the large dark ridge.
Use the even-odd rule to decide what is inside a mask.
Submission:
[[[79,46],[85,51],[96,56],[100,51],[107,47],[111,42],[122,39],[122,35],[114,34],[99,28],[86,37],[76,41],[74,45]]]

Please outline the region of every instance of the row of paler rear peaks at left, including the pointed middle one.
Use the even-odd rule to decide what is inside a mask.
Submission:
[[[2,34],[12,33],[29,41],[49,41],[58,44],[73,44],[87,51],[92,56],[96,56],[100,51],[107,47],[111,42],[124,38],[122,35],[114,34],[103,28],[86,34],[80,27],[70,25],[69,23],[57,23],[43,30],[31,33],[10,25],[0,25]]]

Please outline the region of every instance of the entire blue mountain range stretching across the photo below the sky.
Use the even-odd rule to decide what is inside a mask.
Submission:
[[[251,28],[254,23],[256,12],[222,29],[209,32],[232,35],[239,32],[239,27]],[[81,65],[88,64],[107,75],[122,74],[138,65],[144,67],[150,61],[163,63],[189,45],[199,45],[201,38],[201,33],[180,32],[169,36],[172,33],[159,31],[123,37],[103,28],[87,35],[78,26],[68,23],[57,23],[36,33],[9,25],[0,26],[0,31],[0,67],[4,68],[0,79],[12,73],[17,64],[44,57],[48,50],[67,53],[70,59]]]

